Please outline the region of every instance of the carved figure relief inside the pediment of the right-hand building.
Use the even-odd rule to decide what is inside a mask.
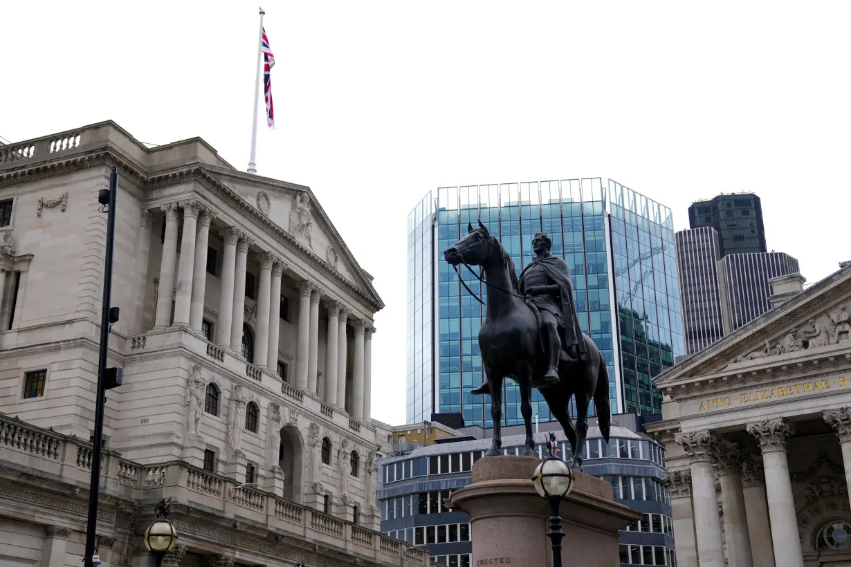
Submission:
[[[848,302],[842,302],[806,323],[786,332],[762,347],[740,354],[733,362],[757,360],[802,350],[820,349],[834,344],[851,343],[851,321]]]

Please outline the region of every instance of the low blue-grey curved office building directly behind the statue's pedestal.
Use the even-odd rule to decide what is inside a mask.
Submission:
[[[604,479],[614,489],[615,502],[643,513],[642,519],[620,531],[620,564],[676,565],[671,495],[663,484],[665,450],[635,429],[635,415],[614,416],[623,426],[612,428],[608,443],[597,427],[588,429],[584,472]],[[463,433],[471,433],[465,428]],[[503,429],[503,452],[523,451],[520,427]],[[640,429],[640,426],[638,426]],[[540,423],[536,451],[545,456],[548,431],[557,432],[558,456],[570,458],[569,444],[555,422]],[[445,505],[452,490],[471,483],[472,465],[488,450],[489,432],[478,428],[473,437],[414,449],[380,463],[378,500],[381,531],[412,545],[425,545],[432,558],[449,567],[471,567],[472,539],[477,536],[467,514]]]

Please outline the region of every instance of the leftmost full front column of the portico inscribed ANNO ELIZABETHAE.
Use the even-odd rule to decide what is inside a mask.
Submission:
[[[694,525],[700,567],[724,567],[724,540],[715,495],[715,472],[712,470],[717,439],[710,431],[692,431],[677,435],[677,443],[683,446],[691,464]]]

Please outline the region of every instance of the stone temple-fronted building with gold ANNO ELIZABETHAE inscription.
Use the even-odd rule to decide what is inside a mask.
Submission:
[[[851,565],[851,263],[656,379],[680,567]]]

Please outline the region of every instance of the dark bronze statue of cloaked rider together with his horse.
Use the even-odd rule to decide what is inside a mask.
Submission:
[[[538,233],[532,241],[535,258],[518,280],[511,257],[482,221],[476,229],[472,224],[467,229],[460,241],[443,252],[443,258],[456,270],[460,264],[471,271],[470,265],[480,266],[487,286],[487,316],[478,334],[487,380],[472,390],[472,394],[490,394],[494,437],[485,456],[502,454],[502,383],[509,377],[520,387],[520,412],[526,426],[523,455],[534,456],[532,388],[538,388],[570,441],[571,467],[581,468],[588,405],[594,401],[597,425],[607,442],[611,407],[606,361],[580,329],[568,264],[552,255],[550,237]],[[575,428],[568,410],[574,395]]]

